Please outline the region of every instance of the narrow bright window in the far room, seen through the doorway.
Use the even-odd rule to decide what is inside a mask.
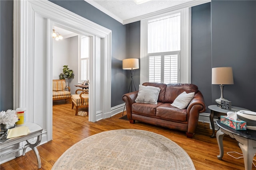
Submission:
[[[80,43],[80,82],[89,80],[89,37],[81,37]]]

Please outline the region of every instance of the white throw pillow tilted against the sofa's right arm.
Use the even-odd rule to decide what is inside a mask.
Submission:
[[[177,107],[179,109],[185,109],[192,100],[192,98],[194,98],[194,95],[195,92],[188,94],[186,92],[183,92],[174,100],[171,106]]]

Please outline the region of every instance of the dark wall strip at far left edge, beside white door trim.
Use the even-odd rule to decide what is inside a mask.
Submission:
[[[13,1],[0,0],[0,111],[13,109]]]

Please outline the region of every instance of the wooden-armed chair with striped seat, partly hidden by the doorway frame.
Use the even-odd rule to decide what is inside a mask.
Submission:
[[[76,90],[76,94],[72,94],[71,98],[72,98],[72,109],[74,108],[74,106],[76,106],[76,115],[78,114],[78,108],[84,107],[88,109],[89,107],[88,89]]]

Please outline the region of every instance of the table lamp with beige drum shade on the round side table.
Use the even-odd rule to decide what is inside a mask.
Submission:
[[[216,67],[212,68],[212,84],[220,84],[220,98],[216,99],[216,103],[220,106],[223,98],[223,88],[225,84],[234,84],[232,67]]]

